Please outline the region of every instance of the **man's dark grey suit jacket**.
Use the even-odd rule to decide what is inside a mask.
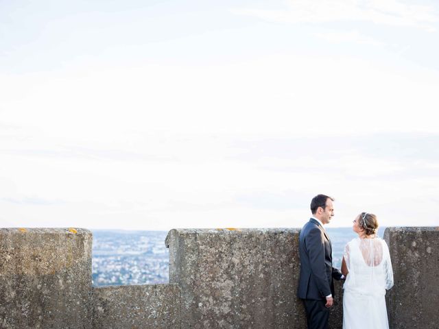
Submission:
[[[299,236],[300,278],[298,297],[304,300],[324,300],[334,296],[333,278],[342,273],[332,267],[332,245],[329,236],[316,219],[309,219]]]

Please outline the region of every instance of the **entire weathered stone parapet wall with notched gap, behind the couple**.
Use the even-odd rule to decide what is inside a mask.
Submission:
[[[0,229],[0,328],[306,328],[298,232],[171,230],[170,284],[93,289],[88,230]],[[390,328],[439,328],[439,228],[388,228],[385,240]]]

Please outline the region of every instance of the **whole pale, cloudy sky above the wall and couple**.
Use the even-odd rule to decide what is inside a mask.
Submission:
[[[0,1],[0,227],[439,226],[437,1]]]

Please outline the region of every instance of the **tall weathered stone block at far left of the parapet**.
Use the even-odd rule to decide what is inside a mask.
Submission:
[[[0,328],[91,329],[88,230],[0,229]]]

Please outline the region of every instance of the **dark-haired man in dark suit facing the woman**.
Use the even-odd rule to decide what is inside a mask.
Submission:
[[[332,267],[332,245],[324,224],[334,215],[332,197],[319,194],[311,200],[312,217],[299,236],[300,278],[298,297],[305,304],[308,329],[327,329],[333,305],[334,284],[344,276]]]

